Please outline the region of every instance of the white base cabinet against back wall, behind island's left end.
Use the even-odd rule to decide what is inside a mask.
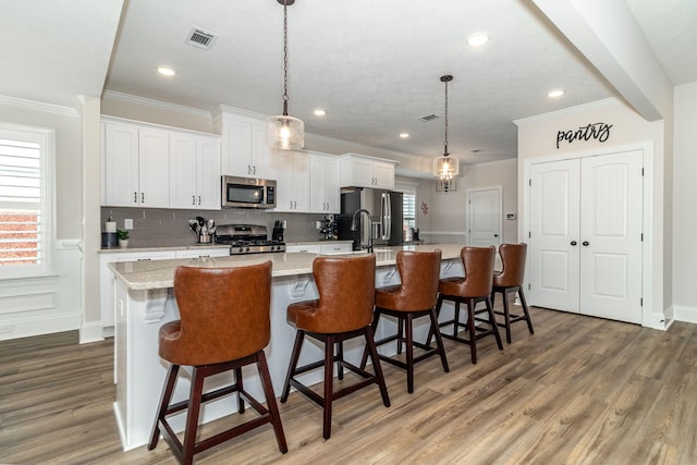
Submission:
[[[112,335],[111,331],[114,325],[113,273],[108,265],[114,261],[166,260],[175,257],[174,250],[105,252],[99,254],[99,304],[105,335]]]

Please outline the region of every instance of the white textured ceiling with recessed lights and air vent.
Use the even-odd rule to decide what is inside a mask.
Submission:
[[[626,2],[673,84],[697,81],[696,2]],[[74,107],[75,95],[106,89],[281,111],[277,1],[130,0],[123,10],[121,0],[0,0],[0,95]],[[485,162],[516,157],[513,120],[615,96],[529,0],[297,0],[289,23],[290,113],[321,136],[435,157],[443,120],[418,118],[443,115],[439,77],[452,74],[450,152]],[[210,50],[185,44],[193,26],[219,36]],[[473,49],[477,30],[491,39]],[[159,64],[176,76],[157,75]],[[566,94],[550,99],[553,87]]]

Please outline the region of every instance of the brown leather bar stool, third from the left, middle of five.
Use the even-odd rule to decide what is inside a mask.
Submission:
[[[396,254],[396,269],[402,281],[399,285],[384,286],[376,290],[375,315],[372,317],[372,331],[375,332],[381,315],[388,315],[398,319],[398,331],[379,341],[380,346],[392,341],[398,341],[398,354],[402,351],[402,343],[406,344],[406,362],[399,358],[378,354],[381,360],[406,370],[406,390],[414,392],[414,364],[421,362],[431,355],[440,355],[443,371],[449,372],[445,348],[438,327],[436,316],[436,299],[438,298],[438,278],[440,274],[441,250],[435,252],[407,252]],[[415,318],[429,317],[430,333],[436,335],[436,347],[414,341]],[[405,333],[405,336],[403,335]],[[426,351],[414,357],[414,347]],[[362,366],[365,367],[368,358],[364,352]]]

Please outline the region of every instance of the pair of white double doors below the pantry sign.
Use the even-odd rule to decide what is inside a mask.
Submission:
[[[641,323],[643,151],[530,166],[531,305]]]

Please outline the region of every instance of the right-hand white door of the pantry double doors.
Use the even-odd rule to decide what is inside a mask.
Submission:
[[[582,313],[641,322],[643,154],[582,160]]]

